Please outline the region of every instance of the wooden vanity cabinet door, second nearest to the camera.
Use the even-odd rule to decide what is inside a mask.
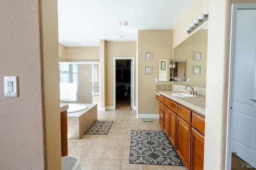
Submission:
[[[176,151],[189,169],[191,126],[177,116]]]

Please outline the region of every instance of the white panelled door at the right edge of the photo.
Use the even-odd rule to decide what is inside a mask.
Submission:
[[[256,166],[256,10],[237,16],[232,152]]]

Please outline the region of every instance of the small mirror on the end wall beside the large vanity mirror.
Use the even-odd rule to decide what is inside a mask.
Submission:
[[[172,81],[172,59],[159,59],[158,81]]]

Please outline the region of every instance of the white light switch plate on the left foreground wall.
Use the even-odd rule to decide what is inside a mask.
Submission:
[[[8,88],[9,85],[12,85],[12,88]],[[10,83],[10,81],[12,83]],[[8,89],[12,89],[13,92],[8,92]],[[5,97],[18,97],[18,77],[17,76],[4,76],[4,96]]]

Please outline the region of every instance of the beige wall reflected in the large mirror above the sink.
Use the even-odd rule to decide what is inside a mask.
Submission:
[[[174,48],[174,59],[186,59],[186,79],[190,78],[190,82],[174,81],[174,84],[206,87],[207,40],[208,30],[198,30],[196,34],[193,34]],[[203,51],[203,59],[195,61],[194,51]],[[194,74],[194,65],[202,65],[202,74]]]

